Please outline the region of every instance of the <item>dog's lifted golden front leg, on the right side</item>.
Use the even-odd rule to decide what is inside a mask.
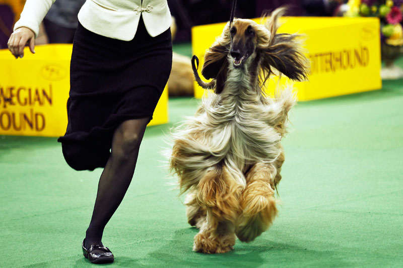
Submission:
[[[257,163],[246,175],[242,193],[242,213],[235,233],[239,240],[250,242],[266,231],[277,214],[274,198],[277,169],[272,164]]]

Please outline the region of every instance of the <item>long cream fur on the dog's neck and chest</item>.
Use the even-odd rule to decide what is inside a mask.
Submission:
[[[224,91],[206,98],[194,118],[208,157],[242,173],[256,162],[273,162],[280,153],[281,136],[264,119],[273,103],[263,99],[249,77],[247,70],[233,69]]]

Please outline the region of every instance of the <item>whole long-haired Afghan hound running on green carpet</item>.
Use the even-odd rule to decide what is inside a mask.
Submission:
[[[263,83],[273,69],[293,80],[307,78],[308,65],[297,35],[277,34],[284,9],[264,25],[235,19],[208,49],[196,81],[212,88],[194,117],[174,134],[170,167],[179,177],[186,215],[200,229],[193,250],[230,251],[235,235],[250,242],[276,216],[274,193],[284,162],[280,144],[287,114],[296,100],[291,90],[266,98]]]

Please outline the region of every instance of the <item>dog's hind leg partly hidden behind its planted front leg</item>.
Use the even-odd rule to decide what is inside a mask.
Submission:
[[[187,222],[191,226],[201,228],[206,222],[207,210],[197,202],[197,189],[191,189],[185,199]]]

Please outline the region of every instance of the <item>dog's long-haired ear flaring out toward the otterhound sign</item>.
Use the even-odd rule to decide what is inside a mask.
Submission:
[[[273,73],[272,68],[296,80],[307,80],[309,62],[303,54],[301,36],[297,34],[278,34],[279,18],[287,8],[276,9],[270,19],[264,24],[264,29],[258,31],[257,48],[261,53],[259,83],[262,86]]]

